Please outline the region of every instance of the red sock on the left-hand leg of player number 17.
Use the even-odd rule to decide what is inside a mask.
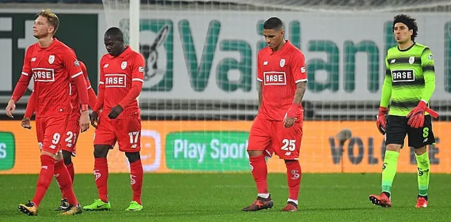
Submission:
[[[97,191],[99,191],[99,198],[108,202],[108,162],[106,158],[94,158],[94,176],[96,180]]]

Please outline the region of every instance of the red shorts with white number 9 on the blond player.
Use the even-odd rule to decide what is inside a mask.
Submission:
[[[37,142],[42,151],[61,152],[61,140],[66,133],[69,114],[58,114],[49,117],[36,117]]]

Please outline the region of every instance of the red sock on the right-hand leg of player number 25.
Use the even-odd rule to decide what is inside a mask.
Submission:
[[[300,164],[298,160],[286,162],[287,166],[287,182],[288,182],[288,198],[289,200],[298,200],[300,178],[302,173],[300,171]],[[298,203],[296,203],[298,204]]]

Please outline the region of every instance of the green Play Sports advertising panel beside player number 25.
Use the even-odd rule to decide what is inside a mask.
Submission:
[[[248,171],[249,133],[244,131],[173,132],[166,137],[168,169]]]

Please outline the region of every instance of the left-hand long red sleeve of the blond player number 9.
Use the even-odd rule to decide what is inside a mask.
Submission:
[[[20,75],[19,81],[12,92],[11,99],[16,103],[19,99],[24,96],[26,89],[28,88],[28,84],[30,84],[31,76],[33,73],[31,72],[31,53],[33,51],[33,46],[28,47],[24,56],[24,65],[22,66],[22,75]]]

